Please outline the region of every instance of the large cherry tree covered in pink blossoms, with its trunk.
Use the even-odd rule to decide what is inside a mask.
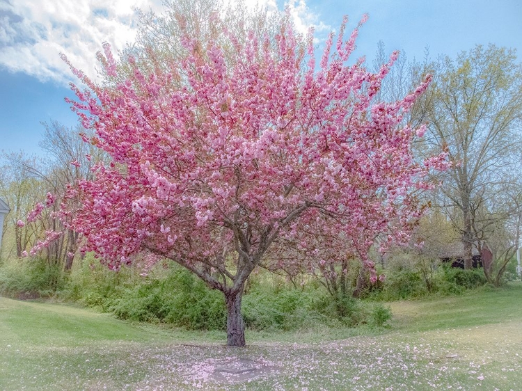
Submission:
[[[358,29],[345,40],[345,23],[318,66],[312,33],[302,40],[284,18],[275,38],[227,33],[202,47],[186,36],[187,55],[168,69],[142,71],[131,56],[117,85],[98,86],[69,63],[86,84],[72,86],[73,109],[95,130],[84,140],[111,157],[94,180],[70,187],[61,210],[84,250],[112,269],[137,253],[186,267],[223,292],[232,346],[245,344],[252,271],[303,261],[278,255],[303,253],[320,266],[319,239],[332,237],[374,280],[368,250],[377,236],[407,241],[422,213],[412,191],[445,163],[443,154],[415,161],[411,142],[424,129],[401,125],[429,79],[374,104],[397,53],[376,74],[363,61],[349,65]],[[102,63],[122,76],[109,45]]]

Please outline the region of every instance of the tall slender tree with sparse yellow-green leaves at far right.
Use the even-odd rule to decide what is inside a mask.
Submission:
[[[507,189],[508,173],[520,173],[522,68],[514,51],[494,45],[430,66],[434,82],[415,113],[429,124],[427,150],[448,150],[453,163],[441,174],[438,201],[461,232],[464,266],[470,269],[473,246],[478,239],[487,241],[496,214],[489,200]],[[489,211],[489,221],[480,222],[485,214],[475,213],[479,209]]]

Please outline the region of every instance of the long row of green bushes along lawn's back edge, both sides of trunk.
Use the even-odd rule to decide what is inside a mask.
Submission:
[[[331,296],[317,280],[296,287],[270,273],[248,280],[242,311],[252,330],[297,330],[317,326],[381,327],[390,309],[376,301],[419,298],[427,294],[459,294],[484,285],[481,270],[429,271],[411,264],[396,264],[383,271],[386,280],[366,289],[374,301],[349,295]],[[162,322],[191,330],[226,328],[223,294],[207,286],[176,264],[159,264],[148,276],[134,267],[109,271],[92,256],[65,274],[43,260],[10,260],[0,266],[0,292],[18,298],[54,296],[112,312],[120,319]]]

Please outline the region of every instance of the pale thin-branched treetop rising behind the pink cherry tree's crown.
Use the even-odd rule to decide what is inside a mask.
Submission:
[[[106,86],[122,82],[137,67],[143,74],[150,74],[159,68],[164,72],[171,69],[173,63],[182,61],[191,53],[182,45],[184,37],[198,37],[198,46],[193,50],[203,53],[211,42],[218,42],[228,61],[235,58],[235,47],[230,45],[229,34],[237,40],[244,40],[249,31],[258,37],[268,34],[274,37],[278,33],[278,14],[269,13],[264,8],[255,8],[251,12],[244,1],[225,3],[221,0],[179,0],[164,1],[164,12],[137,10],[139,29],[136,40],[127,45],[118,61],[118,72],[107,74],[100,68],[100,76]],[[209,23],[209,21],[212,21]],[[272,41],[274,43],[274,41]],[[134,65],[127,59],[132,56]],[[106,59],[100,53],[98,59]]]

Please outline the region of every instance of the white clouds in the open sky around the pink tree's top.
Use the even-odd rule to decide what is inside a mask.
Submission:
[[[250,5],[255,0],[246,0]],[[255,1],[276,10],[275,0]],[[305,0],[287,3],[294,24],[306,33],[326,26],[310,12]],[[7,0],[0,2],[0,66],[24,72],[40,81],[68,83],[74,77],[61,61],[62,52],[90,77],[95,77],[96,52],[102,42],[114,51],[136,37],[135,8],[161,12],[161,0]]]

